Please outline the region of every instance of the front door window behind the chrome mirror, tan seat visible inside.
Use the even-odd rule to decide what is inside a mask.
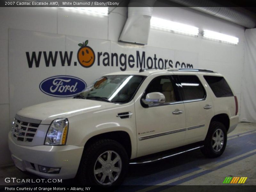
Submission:
[[[160,92],[164,94],[166,103],[176,101],[172,82],[168,76],[159,76],[153,79],[145,91],[144,97],[151,92]]]

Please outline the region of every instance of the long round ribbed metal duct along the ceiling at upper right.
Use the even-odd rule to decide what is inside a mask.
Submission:
[[[223,7],[209,0],[169,0],[170,2],[190,7],[215,17],[236,23],[246,28],[256,27],[256,16],[240,7]]]

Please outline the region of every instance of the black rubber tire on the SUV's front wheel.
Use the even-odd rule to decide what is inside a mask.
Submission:
[[[113,160],[116,157],[117,159],[121,159],[121,163],[120,161],[118,161],[117,163],[114,164],[114,168],[116,168],[116,166],[120,168],[121,171],[119,173],[113,172],[112,164],[107,164],[107,162],[109,162],[107,160],[107,151],[108,153],[110,153],[110,156],[112,157],[112,164],[114,163]],[[102,157],[102,159],[106,163],[106,166],[100,164],[100,161],[98,161],[99,156]],[[128,155],[126,153],[126,150],[119,142],[110,139],[97,140],[84,149],[77,172],[77,177],[81,184],[86,185],[99,185],[103,187],[120,185],[123,182],[124,177],[127,173],[128,164]],[[102,171],[101,173],[97,173],[94,175],[94,169],[104,169],[104,172]],[[107,172],[111,172],[111,175],[113,176],[112,182],[110,181],[109,176],[106,175]],[[100,183],[100,179],[103,177],[103,175],[106,175],[105,180],[103,181],[106,182],[105,184]]]

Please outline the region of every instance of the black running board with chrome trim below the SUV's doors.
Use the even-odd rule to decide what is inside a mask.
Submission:
[[[182,153],[193,151],[193,150],[196,150],[196,149],[199,149],[199,148],[202,148],[202,147],[204,147],[202,142],[198,142],[198,143],[186,145],[186,146],[183,146],[183,147],[174,148],[174,149],[170,149],[170,150],[167,150],[167,151],[155,153],[155,154],[152,154],[152,155],[138,157],[138,158],[132,159],[129,164],[152,163],[152,162],[163,160],[163,159],[166,159],[166,158],[169,158],[169,157],[180,155]]]

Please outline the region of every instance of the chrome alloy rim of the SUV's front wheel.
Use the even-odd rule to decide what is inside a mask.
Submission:
[[[110,185],[117,180],[122,170],[121,157],[115,151],[105,151],[94,164],[94,176],[101,185]]]

